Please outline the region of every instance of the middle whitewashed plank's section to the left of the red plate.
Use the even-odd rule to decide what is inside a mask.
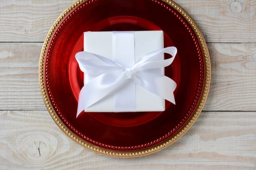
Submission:
[[[0,43],[0,110],[43,109],[38,66],[42,43]]]

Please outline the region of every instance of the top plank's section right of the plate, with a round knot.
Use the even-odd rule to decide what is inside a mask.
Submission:
[[[207,42],[256,42],[255,0],[175,1],[195,19]]]

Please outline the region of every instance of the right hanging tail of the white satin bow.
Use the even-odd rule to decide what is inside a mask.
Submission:
[[[149,92],[176,104],[174,90],[177,84],[171,78],[158,74],[152,75],[146,72],[139,72],[136,76],[136,83]]]

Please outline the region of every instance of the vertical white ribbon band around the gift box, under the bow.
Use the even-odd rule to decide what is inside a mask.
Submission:
[[[132,67],[135,64],[135,32],[112,32],[112,60],[127,68],[127,75],[132,76]],[[114,94],[114,111],[135,112],[137,110],[136,82],[131,79]]]

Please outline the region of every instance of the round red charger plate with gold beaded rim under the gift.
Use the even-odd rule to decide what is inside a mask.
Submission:
[[[162,30],[164,46],[177,47],[165,75],[177,83],[176,105],[164,112],[89,113],[76,118],[83,74],[75,54],[85,31]],[[60,129],[97,153],[135,157],[154,153],[195,122],[210,85],[205,40],[190,16],[171,0],[79,0],[50,29],[40,56],[39,82],[45,105]]]

